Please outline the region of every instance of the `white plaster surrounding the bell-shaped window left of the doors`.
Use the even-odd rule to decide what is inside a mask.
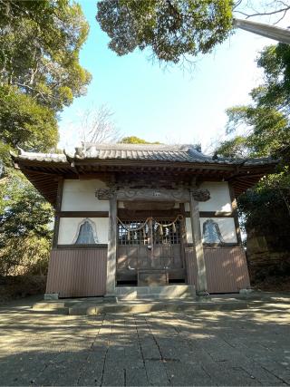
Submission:
[[[61,218],[58,234],[59,245],[72,245],[78,231],[78,226],[85,218]],[[90,218],[95,224],[100,244],[108,243],[109,218]]]

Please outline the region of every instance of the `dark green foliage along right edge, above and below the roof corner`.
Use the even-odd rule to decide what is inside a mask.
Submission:
[[[247,190],[238,198],[238,204],[247,230],[276,236],[277,244],[273,248],[288,246],[290,249],[289,46],[266,47],[257,64],[264,69],[265,78],[250,93],[253,102],[227,110],[227,133],[235,135],[237,131],[244,131],[244,135],[224,141],[216,151],[230,157],[270,155],[279,160],[275,173],[261,179],[255,189]]]

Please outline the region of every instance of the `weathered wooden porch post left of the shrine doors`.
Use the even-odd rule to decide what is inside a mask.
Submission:
[[[116,259],[117,259],[117,198],[112,195],[109,199],[109,235],[108,235],[108,260],[107,260],[107,286],[106,295],[115,295],[116,284]]]

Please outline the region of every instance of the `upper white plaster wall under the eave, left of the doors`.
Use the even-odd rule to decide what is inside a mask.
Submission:
[[[109,200],[98,200],[96,189],[106,188],[98,179],[63,182],[62,211],[109,211]]]

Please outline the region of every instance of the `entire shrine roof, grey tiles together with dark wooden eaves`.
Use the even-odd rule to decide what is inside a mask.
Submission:
[[[13,155],[15,165],[49,202],[56,203],[58,179],[157,179],[159,184],[230,181],[236,195],[275,169],[277,160],[229,159],[204,155],[193,145],[83,143],[73,152]]]

